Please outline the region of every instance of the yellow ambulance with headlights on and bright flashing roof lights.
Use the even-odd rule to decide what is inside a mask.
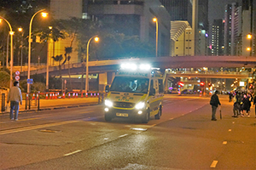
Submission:
[[[104,101],[106,122],[115,117],[148,123],[151,116],[160,119],[164,97],[163,74],[148,64],[124,64],[116,73]]]

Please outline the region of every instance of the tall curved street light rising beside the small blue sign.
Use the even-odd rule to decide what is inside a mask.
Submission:
[[[28,34],[28,62],[27,62],[27,81],[30,79],[30,63],[31,63],[31,32],[32,32],[32,20],[36,14],[41,13],[43,17],[46,17],[48,14],[44,13],[44,9],[38,10],[35,14],[32,15],[32,19],[29,24],[29,34]],[[30,93],[30,84],[27,82],[27,93]]]

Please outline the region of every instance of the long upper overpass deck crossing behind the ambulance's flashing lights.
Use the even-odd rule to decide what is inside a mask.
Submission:
[[[108,60],[92,60],[89,61],[90,73],[102,73],[106,71],[116,71],[119,65],[125,62],[149,63],[153,67],[161,69],[176,68],[253,68],[256,65],[255,57],[244,56],[177,56],[177,57],[153,57],[153,58],[131,58],[131,59],[108,59]],[[82,63],[70,64],[72,75],[82,73]],[[33,74],[45,74],[46,66],[41,69],[31,71]],[[68,74],[68,65],[61,65],[61,73]],[[59,66],[49,66],[49,76],[59,74]],[[20,77],[26,77],[27,71],[20,73]]]

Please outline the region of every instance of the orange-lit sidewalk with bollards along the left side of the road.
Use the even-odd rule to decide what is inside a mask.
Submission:
[[[37,102],[37,105],[36,105]],[[98,105],[98,98],[78,98],[78,99],[40,99],[39,100],[39,111],[44,110],[54,110],[54,109],[64,109],[71,107],[79,107],[84,105]],[[22,100],[22,105],[20,105],[20,112],[26,111],[38,111],[38,100],[33,100],[31,105],[31,109],[25,110],[26,101]],[[1,112],[2,114],[8,113],[8,111]]]

